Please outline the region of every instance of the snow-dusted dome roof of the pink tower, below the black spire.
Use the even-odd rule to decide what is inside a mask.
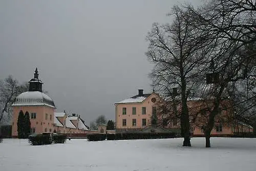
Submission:
[[[48,105],[56,108],[53,100],[46,94],[38,91],[24,92],[16,97],[13,106],[22,105]]]

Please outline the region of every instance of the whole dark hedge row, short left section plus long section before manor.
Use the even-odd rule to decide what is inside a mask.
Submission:
[[[135,140],[135,139],[163,139],[175,138],[177,133],[116,133],[116,134],[89,134],[88,141],[102,140]]]

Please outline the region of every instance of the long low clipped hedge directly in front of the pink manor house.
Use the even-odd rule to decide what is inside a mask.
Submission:
[[[175,138],[177,133],[116,133],[106,137],[108,140],[163,139]]]

